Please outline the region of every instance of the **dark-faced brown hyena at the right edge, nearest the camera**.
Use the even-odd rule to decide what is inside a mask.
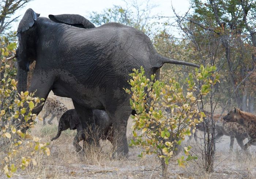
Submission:
[[[248,143],[244,145],[245,150],[251,145],[256,145],[256,116],[235,107],[223,119],[227,122],[236,122],[245,127],[250,137]]]

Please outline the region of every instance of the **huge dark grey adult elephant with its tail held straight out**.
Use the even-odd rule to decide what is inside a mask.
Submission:
[[[29,88],[35,96],[72,98],[83,129],[94,124],[92,109],[104,109],[113,123],[117,156],[128,155],[126,126],[132,109],[129,88],[132,69],[159,73],[164,63],[199,67],[159,55],[150,39],[133,27],[108,23],[94,27],[79,15],[39,17],[27,9],[18,26],[18,90],[26,90],[29,64],[36,61]],[[35,108],[39,113],[42,106]],[[115,155],[114,155],[115,156]]]

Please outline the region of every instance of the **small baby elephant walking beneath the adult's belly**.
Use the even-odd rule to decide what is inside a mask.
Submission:
[[[99,128],[99,132],[101,133],[100,137],[102,140],[108,139],[111,143],[113,142],[113,135],[112,135],[112,122],[108,117],[107,113],[104,110],[93,110],[94,120],[96,127]],[[77,131],[76,136],[73,140],[73,145],[76,149],[76,152],[79,152],[82,147],[78,144],[82,138],[82,124],[78,118],[75,109],[69,109],[65,113],[62,114],[60,121],[59,121],[59,128],[56,137],[53,137],[51,141],[58,139],[62,131],[67,129]]]

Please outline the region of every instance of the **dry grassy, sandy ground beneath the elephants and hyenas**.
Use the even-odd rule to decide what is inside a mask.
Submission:
[[[69,98],[56,97],[68,109],[74,108]],[[42,116],[42,114],[39,114]],[[47,117],[47,119],[49,119]],[[50,141],[57,133],[57,120],[53,125],[42,125],[38,121],[32,133],[39,136],[42,141]],[[127,127],[127,136],[131,137],[131,119]],[[111,159],[112,144],[108,141],[101,141],[101,148],[91,147],[86,150],[85,155],[76,153],[72,145],[76,131],[64,131],[60,138],[50,142],[50,156],[37,156],[37,166],[29,167],[25,171],[18,171],[14,178],[161,178],[162,171],[158,158],[147,156],[139,158],[140,148],[130,147],[128,159]],[[201,133],[202,134],[202,133]],[[245,141],[246,142],[246,141]],[[169,178],[256,178],[256,146],[250,148],[250,155],[241,151],[236,140],[233,152],[229,152],[230,138],[223,136],[217,143],[217,151],[214,160],[214,172],[204,172],[203,162],[200,155],[200,142],[191,143],[185,141],[183,145],[191,145],[192,151],[197,153],[199,159],[191,161],[185,168],[177,166],[177,157],[173,158],[168,168]],[[80,143],[82,145],[82,143]],[[182,155],[182,152],[180,153]],[[0,178],[5,176],[0,175]]]

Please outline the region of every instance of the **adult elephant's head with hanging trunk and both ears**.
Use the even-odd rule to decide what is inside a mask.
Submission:
[[[29,65],[37,59],[38,43],[38,17],[40,14],[35,13],[29,8],[25,12],[19,23],[17,36],[19,47],[16,50],[18,60],[18,91],[26,91],[27,71]],[[56,23],[64,23],[79,28],[94,28],[94,24],[83,16],[76,14],[49,15],[50,20]]]

